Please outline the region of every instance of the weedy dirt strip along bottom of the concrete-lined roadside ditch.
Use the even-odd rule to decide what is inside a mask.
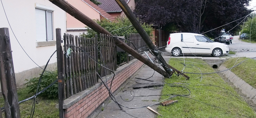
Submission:
[[[216,72],[219,71],[218,69],[213,69],[213,70],[215,70]],[[223,74],[218,73],[218,75],[220,75],[220,77],[225,81],[225,83],[232,86],[232,88],[234,88],[234,90],[239,94],[240,97],[236,96],[237,98],[244,100],[256,112],[256,104],[254,104],[254,102],[250,98],[246,97],[246,95],[242,93],[241,90],[237,88],[232,82],[228,81],[228,78],[225,77]],[[253,98],[253,99],[256,99],[256,98]]]

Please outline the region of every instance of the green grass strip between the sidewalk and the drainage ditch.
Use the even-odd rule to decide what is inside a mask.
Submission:
[[[185,60],[196,63],[204,63],[200,59],[186,58]],[[185,64],[192,64],[198,67],[202,73],[214,72],[214,70],[212,70],[212,68],[207,64],[196,64],[190,62],[185,62]],[[176,58],[171,58],[169,61],[169,64],[174,68],[182,70],[184,66],[180,63],[184,63],[184,61]],[[185,68],[183,71],[200,73],[200,71],[192,65],[187,65],[187,68]],[[181,86],[187,87],[191,91],[191,94],[187,96],[188,98],[181,96],[172,98],[171,100],[179,101],[170,106],[159,106],[158,111],[163,115],[163,117],[158,115],[158,118],[241,118],[243,117],[242,115],[251,118],[256,117],[255,111],[253,111],[252,108],[249,107],[248,104],[236,93],[236,91],[218,74],[203,75],[204,77],[201,82],[199,82],[201,78],[197,78],[201,77],[200,74],[187,75],[190,77],[189,80],[185,80],[185,78],[181,76],[177,77],[176,75],[165,79],[166,83],[180,82],[188,84]],[[184,87],[172,87],[165,84],[161,94],[184,95],[189,94],[189,92]],[[170,95],[161,96],[160,99],[164,100],[168,97],[170,97]],[[198,102],[196,100],[216,107]]]

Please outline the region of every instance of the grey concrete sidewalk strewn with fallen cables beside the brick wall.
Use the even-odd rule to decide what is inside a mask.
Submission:
[[[144,107],[144,106],[148,106],[148,105],[157,103],[157,101],[159,101],[159,96],[134,97],[134,99],[132,100],[131,91],[134,92],[135,96],[160,95],[162,86],[156,87],[156,88],[154,88],[154,87],[150,88],[150,89],[158,89],[158,90],[150,90],[148,88],[140,88],[140,89],[130,88],[130,86],[132,86],[132,85],[137,85],[137,83],[135,81],[138,79],[136,79],[135,77],[148,78],[148,77],[152,76],[153,73],[154,73],[154,70],[151,69],[150,67],[148,67],[147,65],[142,66],[140,68],[140,70],[137,71],[137,73],[135,73],[130,79],[127,80],[127,81],[129,81],[128,84],[125,85],[124,88],[121,88],[121,91],[115,95],[116,100],[120,104],[122,104],[126,107],[133,107],[136,109],[129,109],[129,108],[123,107],[124,111],[126,111],[126,113],[128,113],[128,114],[126,114],[124,111],[120,110],[120,108],[113,102],[113,100],[109,100],[110,102],[108,103],[108,105],[104,108],[104,110],[102,112],[100,112],[100,114],[96,118],[134,118],[132,116],[135,116],[138,118],[156,118],[156,113],[152,112],[148,108],[138,108],[138,107]],[[153,77],[149,78],[149,80],[153,80],[154,82],[162,82],[163,76],[161,74],[155,72]],[[141,80],[138,82],[139,83],[151,83],[151,82],[145,81],[145,80]],[[121,99],[120,96],[122,96],[123,100]],[[129,101],[129,102],[126,102],[124,100]],[[130,101],[130,100],[132,100],[132,101]],[[155,111],[157,111],[156,110],[157,105],[150,106],[150,107],[152,109],[154,109]],[[130,116],[129,114],[132,116]]]

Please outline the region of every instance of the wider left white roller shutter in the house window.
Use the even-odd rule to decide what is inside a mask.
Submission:
[[[45,11],[36,9],[36,41],[46,41]]]

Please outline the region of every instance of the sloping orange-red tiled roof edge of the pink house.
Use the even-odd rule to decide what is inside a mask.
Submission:
[[[100,18],[107,18],[110,21],[114,21],[115,18],[109,15],[106,11],[102,10],[99,6],[92,3],[90,0],[83,0],[86,4],[91,6],[95,11],[98,11],[100,13]]]

